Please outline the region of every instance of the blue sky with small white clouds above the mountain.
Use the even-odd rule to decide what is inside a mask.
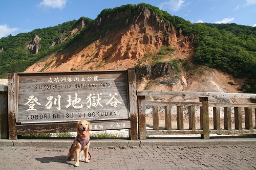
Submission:
[[[256,27],[256,0],[0,0],[0,38],[88,17],[106,8],[146,3],[192,23]]]

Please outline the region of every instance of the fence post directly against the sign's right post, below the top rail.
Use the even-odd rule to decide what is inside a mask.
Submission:
[[[137,96],[138,104],[138,122],[139,122],[139,139],[146,139],[146,113],[145,113],[145,96]]]

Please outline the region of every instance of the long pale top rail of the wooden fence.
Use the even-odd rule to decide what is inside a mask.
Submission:
[[[137,95],[256,99],[256,94],[249,94],[249,93],[137,90]]]

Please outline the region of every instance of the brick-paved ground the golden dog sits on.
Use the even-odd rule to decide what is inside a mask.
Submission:
[[[255,145],[91,148],[90,163],[68,160],[67,149],[0,147],[1,169],[256,169]]]

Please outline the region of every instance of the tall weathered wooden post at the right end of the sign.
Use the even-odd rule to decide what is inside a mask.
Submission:
[[[129,83],[129,106],[131,129],[129,136],[131,140],[138,140],[138,126],[137,126],[137,103],[136,103],[136,77],[135,69],[128,69],[128,83]]]

